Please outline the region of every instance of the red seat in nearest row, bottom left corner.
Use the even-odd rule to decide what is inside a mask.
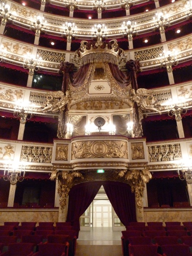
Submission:
[[[9,244],[8,251],[3,252],[1,256],[30,256],[33,255],[34,244],[23,244],[23,243],[13,243]]]

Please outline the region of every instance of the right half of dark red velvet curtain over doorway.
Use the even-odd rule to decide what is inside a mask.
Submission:
[[[123,225],[128,226],[129,222],[135,222],[135,193],[131,192],[131,187],[114,181],[103,182],[103,187]]]

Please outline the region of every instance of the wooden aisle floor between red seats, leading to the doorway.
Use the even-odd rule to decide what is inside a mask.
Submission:
[[[76,256],[122,256],[121,231],[112,231],[112,227],[80,231]]]

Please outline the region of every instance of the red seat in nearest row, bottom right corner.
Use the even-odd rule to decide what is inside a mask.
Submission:
[[[188,245],[162,245],[163,256],[189,256]]]

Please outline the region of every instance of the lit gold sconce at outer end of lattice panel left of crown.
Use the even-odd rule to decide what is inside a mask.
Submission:
[[[37,59],[34,58],[33,55],[25,55],[25,59],[23,61],[23,68],[29,69],[29,75],[34,75],[34,71],[39,71],[41,58],[37,55]]]

